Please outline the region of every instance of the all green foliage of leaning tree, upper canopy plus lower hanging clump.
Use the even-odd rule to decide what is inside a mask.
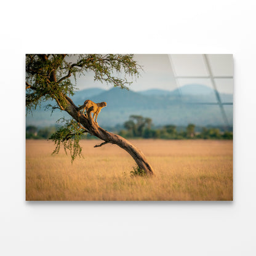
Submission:
[[[76,81],[78,76],[86,76],[90,71],[94,73],[95,81],[128,89],[127,86],[132,83],[130,79],[138,76],[140,68],[132,54],[27,54],[26,110],[33,111],[42,102],[54,100],[56,105],[49,106],[52,111],[66,111],[74,117],[76,113],[72,111],[79,110],[70,99],[75,89],[75,84],[71,82],[72,77]],[[56,145],[55,153],[63,144],[65,150],[70,150],[73,160],[81,153],[78,142],[82,132],[89,130],[81,128],[78,120],[66,120],[63,127],[51,137]],[[38,133],[42,137],[49,137],[46,130]]]

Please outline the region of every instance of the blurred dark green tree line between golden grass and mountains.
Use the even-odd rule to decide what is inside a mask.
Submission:
[[[48,139],[58,126],[50,127],[26,127],[26,138]],[[125,138],[162,138],[166,140],[183,140],[183,139],[233,139],[233,129],[227,127],[220,129],[217,127],[196,127],[194,124],[188,124],[186,127],[177,127],[172,124],[155,127],[151,118],[132,115],[129,120],[124,122],[123,126],[107,127],[106,129],[118,133]],[[83,138],[95,138],[92,135],[86,134]]]

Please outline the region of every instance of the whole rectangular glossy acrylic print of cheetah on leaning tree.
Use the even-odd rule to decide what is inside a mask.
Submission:
[[[27,54],[26,200],[233,200],[233,55]]]

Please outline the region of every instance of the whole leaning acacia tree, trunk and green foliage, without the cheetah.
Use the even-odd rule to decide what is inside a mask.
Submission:
[[[132,81],[127,78],[138,76],[140,65],[135,62],[132,54],[27,54],[26,55],[26,108],[32,111],[41,102],[54,100],[56,105],[50,106],[52,111],[59,109],[70,114],[71,119],[66,120],[60,129],[50,138],[55,142],[55,151],[58,153],[60,146],[70,150],[72,161],[81,155],[79,139],[85,132],[103,140],[100,145],[106,143],[116,144],[126,150],[138,167],[146,174],[153,174],[153,169],[146,161],[142,151],[132,145],[128,140],[117,134],[106,131],[92,119],[88,110],[88,118],[81,114],[84,102],[76,106],[71,97],[74,94],[74,86],[70,78],[76,80],[77,76],[85,75],[88,71],[94,73],[94,80],[113,84],[114,87],[128,89]],[[124,74],[123,78],[120,76]],[[87,100],[85,98],[84,100]]]

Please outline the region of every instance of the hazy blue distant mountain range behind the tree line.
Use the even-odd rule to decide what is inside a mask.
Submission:
[[[220,94],[220,97],[222,102],[233,102],[232,94]],[[215,91],[199,84],[186,85],[172,91],[151,89],[134,92],[119,88],[110,90],[90,88],[79,90],[71,98],[77,106],[82,105],[87,99],[106,102],[107,106],[98,117],[102,127],[123,124],[131,114],[151,118],[155,125],[186,126],[188,123],[198,126],[223,125],[220,107],[217,104],[205,104],[217,103]],[[232,124],[233,106],[225,105],[224,108],[228,121]],[[50,111],[41,108],[33,112],[33,117],[31,114],[26,116],[26,125],[50,126],[63,116],[68,118],[68,114],[60,111],[54,111],[50,116]]]

